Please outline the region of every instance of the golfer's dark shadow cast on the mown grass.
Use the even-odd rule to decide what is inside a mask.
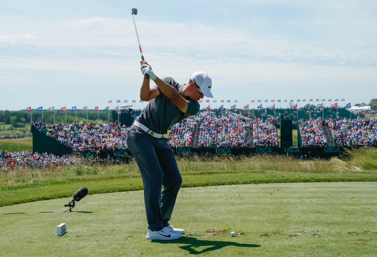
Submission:
[[[217,249],[221,249],[227,246],[237,246],[237,247],[260,247],[258,244],[242,244],[236,242],[228,242],[228,241],[212,241],[212,240],[198,240],[195,237],[181,237],[178,240],[171,240],[171,241],[161,241],[161,240],[152,240],[155,243],[162,243],[162,244],[186,244],[183,246],[179,246],[179,248],[190,252],[190,254],[202,254],[207,251],[214,251]],[[202,247],[202,246],[209,246],[201,251],[197,251],[195,248]]]

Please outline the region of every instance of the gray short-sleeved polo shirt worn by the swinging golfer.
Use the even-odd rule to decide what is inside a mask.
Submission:
[[[174,87],[183,97],[182,84],[177,83],[171,77],[164,77],[162,80]],[[183,113],[161,92],[157,85],[154,85],[154,87],[159,90],[160,95],[155,99],[150,100],[140,116],[136,118],[136,121],[148,127],[149,130],[158,134],[166,134],[168,133],[168,129],[175,123],[199,112],[199,103],[191,100],[190,97],[183,97],[187,102],[186,113]]]

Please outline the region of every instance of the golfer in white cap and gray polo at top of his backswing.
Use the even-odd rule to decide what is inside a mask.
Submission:
[[[146,239],[179,239],[184,230],[173,228],[169,221],[182,177],[164,134],[175,123],[197,114],[198,100],[213,97],[212,80],[207,73],[197,71],[189,83],[182,85],[171,77],[157,77],[147,62],[140,63],[144,75],[140,99],[149,103],[129,128],[127,145],[143,180],[148,222]],[[149,88],[150,79],[156,83],[152,88]]]

